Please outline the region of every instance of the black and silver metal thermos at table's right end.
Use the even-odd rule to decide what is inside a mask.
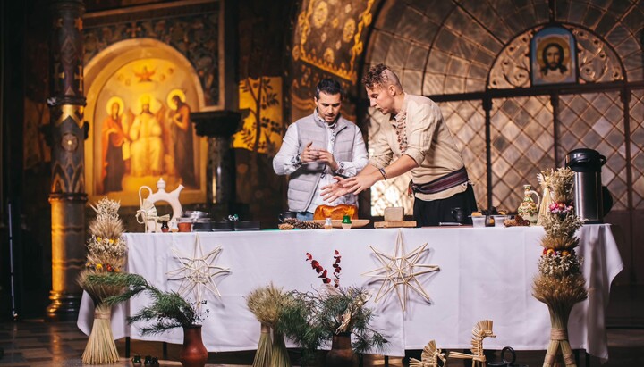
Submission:
[[[575,213],[586,223],[604,222],[601,168],[606,157],[596,150],[575,149],[566,155],[566,166],[575,172]]]

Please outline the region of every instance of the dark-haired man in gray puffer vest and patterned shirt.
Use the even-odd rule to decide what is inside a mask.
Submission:
[[[335,182],[334,176],[355,176],[369,162],[360,129],[340,115],[343,97],[340,83],[322,79],[313,98],[317,108],[289,126],[273,159],[275,173],[291,175],[289,210],[302,221],[312,220],[318,205],[329,204],[320,196],[320,188]],[[357,196],[348,195],[330,204],[357,201]]]

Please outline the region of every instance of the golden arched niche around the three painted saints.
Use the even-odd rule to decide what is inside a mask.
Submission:
[[[186,184],[179,174],[185,162],[174,162],[176,143],[172,115],[176,113],[171,96],[179,95],[192,113],[205,107],[203,89],[191,63],[172,46],[151,38],[124,40],[107,47],[93,57],[85,66],[87,106],[85,118],[89,121],[89,138],[85,141],[86,182],[89,200],[101,196],[120,200],[123,205],[139,205],[140,186],[154,187],[161,177],[172,190],[180,183],[186,187],[181,196],[182,204],[203,203],[206,200],[207,142],[194,134],[192,128],[191,162],[194,180]],[[141,113],[142,103],[149,101],[149,111],[163,130],[155,146],[161,146],[160,158],[150,163],[149,151],[137,150],[137,156],[145,159],[144,170],[133,172],[126,156],[133,152],[123,149],[122,188],[104,188],[104,158],[102,128],[109,116],[108,104],[120,99],[120,117],[125,133]],[[158,151],[158,149],[157,149]],[[156,155],[155,155],[156,157]],[[131,158],[132,159],[132,158]],[[159,161],[160,160],[160,161]],[[141,164],[138,165],[140,167]]]

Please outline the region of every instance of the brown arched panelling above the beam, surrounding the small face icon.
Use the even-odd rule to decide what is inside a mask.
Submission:
[[[558,0],[555,9],[555,21],[581,38],[580,46],[594,58],[586,78],[580,70],[580,82],[644,79],[639,0]],[[543,0],[387,0],[375,20],[366,64],[386,63],[413,94],[479,92],[487,88],[490,71],[500,69],[495,64],[508,46],[520,47],[522,36],[548,21]],[[599,59],[601,53],[606,59]],[[489,88],[517,87],[505,84]]]

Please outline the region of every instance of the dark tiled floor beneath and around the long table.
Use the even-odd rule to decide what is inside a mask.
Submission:
[[[614,287],[611,293],[611,304],[606,323],[608,325],[608,347],[610,360],[601,364],[597,358],[587,360],[580,355],[579,366],[590,367],[640,367],[644,366],[644,287]],[[82,366],[82,354],[87,337],[72,322],[48,323],[43,321],[19,321],[0,323],[0,348],[4,357],[0,366]],[[117,346],[122,359],[114,366],[131,366],[124,358],[124,340],[118,340]],[[179,345],[167,345],[164,357],[162,343],[131,342],[131,354],[153,355],[161,359],[161,365],[181,365]],[[494,353],[494,352],[493,352]],[[530,366],[543,364],[545,351],[518,352],[517,363]],[[248,366],[252,363],[253,351],[237,353],[210,354],[208,366]],[[296,360],[297,355],[292,355]],[[496,360],[498,353],[490,355]],[[462,361],[448,360],[449,366],[464,366]],[[382,356],[365,357],[365,366],[384,365]],[[406,366],[400,358],[389,358],[389,365]]]

